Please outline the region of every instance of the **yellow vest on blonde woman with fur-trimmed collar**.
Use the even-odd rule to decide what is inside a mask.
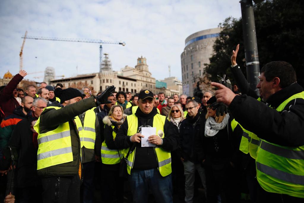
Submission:
[[[114,129],[114,126],[111,126],[112,129]],[[113,130],[113,139],[115,140],[116,132]],[[118,149],[109,149],[107,144],[105,143],[105,140],[102,142],[101,145],[101,160],[104,164],[116,164],[120,162],[120,159],[122,159],[122,154],[119,152]]]

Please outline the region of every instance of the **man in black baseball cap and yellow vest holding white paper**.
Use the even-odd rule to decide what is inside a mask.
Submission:
[[[135,114],[121,125],[115,144],[129,151],[127,172],[133,192],[133,202],[147,202],[149,189],[157,202],[172,202],[171,150],[178,148],[178,132],[154,107],[154,94],[142,90]],[[143,127],[156,128],[154,135],[142,135]],[[148,137],[154,147],[145,147],[141,139]],[[132,172],[131,172],[132,171]]]

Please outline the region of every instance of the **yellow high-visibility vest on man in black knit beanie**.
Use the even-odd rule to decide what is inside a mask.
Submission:
[[[60,107],[45,109],[50,108],[60,109]],[[82,125],[79,117],[76,116],[74,121],[78,131],[81,132]],[[34,129],[38,132],[37,170],[73,161],[69,122],[60,124],[56,129],[46,133],[40,133],[39,123],[40,117],[34,125]]]

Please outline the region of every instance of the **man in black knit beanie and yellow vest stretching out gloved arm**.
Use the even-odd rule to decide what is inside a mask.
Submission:
[[[108,101],[110,86],[99,96],[82,100],[78,89],[55,89],[60,98],[45,108],[34,129],[38,132],[37,174],[42,177],[43,202],[80,202],[83,128],[78,115]]]

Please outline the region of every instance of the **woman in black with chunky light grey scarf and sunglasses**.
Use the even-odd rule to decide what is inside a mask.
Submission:
[[[207,101],[207,114],[202,148],[205,159],[207,202],[239,202],[240,187],[237,174],[237,152],[242,128],[230,114],[216,116],[215,96]]]

